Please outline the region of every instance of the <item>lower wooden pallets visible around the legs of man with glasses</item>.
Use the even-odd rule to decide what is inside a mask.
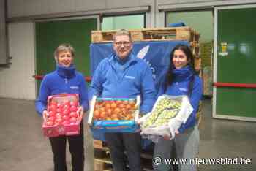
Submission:
[[[143,171],[153,171],[152,168],[152,153],[141,153],[141,161]],[[127,164],[127,167],[129,165]],[[110,151],[105,145],[105,142],[94,140],[94,170],[95,171],[110,171],[113,170],[112,161],[110,159]]]

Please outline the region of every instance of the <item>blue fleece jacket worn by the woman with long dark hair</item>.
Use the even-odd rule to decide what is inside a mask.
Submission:
[[[183,133],[185,129],[197,124],[196,113],[203,94],[203,83],[200,77],[197,75],[192,75],[190,66],[186,66],[181,69],[174,69],[173,74],[173,83],[170,86],[167,86],[167,89],[164,92],[164,82],[162,82],[157,96],[161,96],[162,94],[168,94],[171,96],[188,95],[189,81],[192,79],[192,77],[195,77],[192,93],[191,96],[189,96],[189,102],[193,107],[193,111],[191,115],[189,115],[187,122],[182,123],[181,127],[178,129],[178,132]]]

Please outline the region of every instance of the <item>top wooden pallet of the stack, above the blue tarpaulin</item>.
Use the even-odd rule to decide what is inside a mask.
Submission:
[[[113,35],[117,30],[91,31],[91,42],[113,42]],[[143,28],[129,30],[133,42],[161,41],[161,40],[187,40],[195,45],[199,41],[200,34],[189,27],[167,27],[167,28]]]

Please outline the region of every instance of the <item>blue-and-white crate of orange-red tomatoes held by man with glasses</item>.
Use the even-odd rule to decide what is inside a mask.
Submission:
[[[88,123],[102,132],[135,132],[139,126],[140,96],[136,99],[97,98],[91,100]]]

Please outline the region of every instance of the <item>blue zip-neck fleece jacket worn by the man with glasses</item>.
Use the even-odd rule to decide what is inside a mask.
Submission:
[[[140,113],[151,111],[156,95],[151,69],[133,53],[123,60],[116,53],[103,59],[94,72],[91,90],[102,98],[135,99],[140,95]]]

